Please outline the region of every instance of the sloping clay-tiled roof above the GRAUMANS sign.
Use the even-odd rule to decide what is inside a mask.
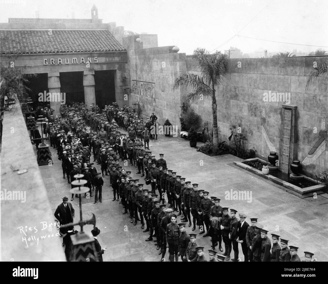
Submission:
[[[108,30],[1,30],[1,54],[108,52],[126,49]]]

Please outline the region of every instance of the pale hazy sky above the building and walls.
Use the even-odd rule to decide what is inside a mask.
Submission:
[[[320,48],[304,45],[328,50],[327,0],[0,0],[0,22],[34,18],[35,11],[40,18],[71,18],[72,12],[75,18],[91,18],[93,4],[103,23],[155,33],[159,46],[177,45],[187,54],[196,47],[224,51],[230,46],[244,53]]]

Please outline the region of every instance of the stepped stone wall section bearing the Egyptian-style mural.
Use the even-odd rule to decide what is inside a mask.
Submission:
[[[140,102],[144,118],[154,112],[159,124],[168,118],[179,126],[181,90],[173,90],[173,85],[174,79],[186,72],[186,55],[172,51],[173,46],[143,48],[142,41],[135,41],[138,37],[123,38],[123,46],[128,51],[129,104]],[[151,90],[147,93],[148,88]]]

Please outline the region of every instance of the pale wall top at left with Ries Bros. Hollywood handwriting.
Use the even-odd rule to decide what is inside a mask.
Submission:
[[[51,164],[41,167],[48,166]],[[18,174],[13,169],[27,172]],[[15,194],[20,200],[10,200],[9,192],[14,191],[25,195]],[[57,227],[50,226],[52,231],[44,227],[54,223],[55,218],[18,102],[15,110],[4,112],[1,195],[1,199],[7,197],[1,200],[1,260],[66,261]]]

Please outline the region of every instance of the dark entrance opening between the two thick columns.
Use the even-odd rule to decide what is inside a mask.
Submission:
[[[66,93],[66,104],[70,101],[84,103],[83,71],[60,72],[60,91]]]

